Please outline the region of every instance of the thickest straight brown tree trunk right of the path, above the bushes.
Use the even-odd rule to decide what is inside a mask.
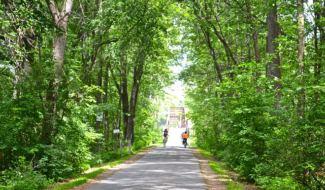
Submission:
[[[278,45],[275,40],[280,36],[279,26],[278,26],[278,10],[276,6],[276,1],[273,1],[271,7],[269,7],[269,12],[267,14],[267,25],[268,25],[268,39],[267,48],[270,55],[269,64],[267,65],[267,77],[270,79],[281,80],[281,58],[278,50]],[[282,88],[281,83],[276,81],[273,89],[276,90],[277,96],[280,98],[280,89]]]

